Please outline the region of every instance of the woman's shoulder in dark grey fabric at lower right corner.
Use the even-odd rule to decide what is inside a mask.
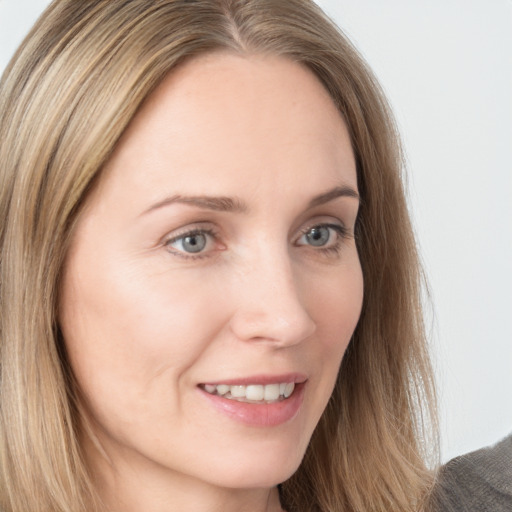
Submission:
[[[448,462],[435,497],[439,512],[511,512],[512,435]]]

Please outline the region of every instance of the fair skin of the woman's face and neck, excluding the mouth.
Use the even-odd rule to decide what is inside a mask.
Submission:
[[[301,462],[361,311],[347,190],[346,126],[299,64],[202,56],[145,103],[87,199],[61,289],[106,509],[281,510],[276,485]],[[239,208],[169,201],[204,195]],[[235,421],[198,387],[288,373],[307,378],[303,402],[273,427]]]

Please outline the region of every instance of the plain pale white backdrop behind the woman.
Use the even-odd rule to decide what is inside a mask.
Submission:
[[[318,1],[404,138],[447,460],[512,432],[512,0]],[[0,69],[48,3],[0,0]]]

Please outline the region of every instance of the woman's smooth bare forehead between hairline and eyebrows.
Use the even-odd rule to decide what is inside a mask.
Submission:
[[[323,173],[323,189],[326,180],[357,186],[345,123],[318,78],[283,57],[229,53],[168,75],[118,144],[107,181],[120,173],[155,189],[168,188],[171,174],[173,188],[194,183],[194,193],[212,194],[238,180],[288,186],[290,173]]]

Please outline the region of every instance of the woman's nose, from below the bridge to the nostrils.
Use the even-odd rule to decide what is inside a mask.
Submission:
[[[289,257],[255,258],[238,276],[231,318],[238,339],[286,347],[313,335],[316,324],[303,303],[307,289]]]

